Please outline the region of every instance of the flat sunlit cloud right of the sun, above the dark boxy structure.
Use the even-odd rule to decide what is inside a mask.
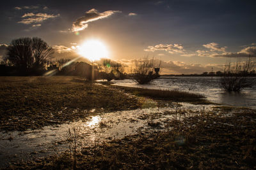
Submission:
[[[164,50],[168,53],[184,53],[183,46],[180,44],[159,44],[155,46],[148,46],[144,51],[155,52],[157,50]]]

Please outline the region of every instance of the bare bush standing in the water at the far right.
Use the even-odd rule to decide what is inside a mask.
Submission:
[[[228,92],[241,92],[246,87],[252,87],[253,81],[248,80],[248,75],[255,69],[255,62],[250,57],[246,62],[228,62],[221,76],[221,87]]]

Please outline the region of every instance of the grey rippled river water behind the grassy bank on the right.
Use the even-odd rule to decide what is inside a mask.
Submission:
[[[255,77],[250,81],[255,81]],[[246,106],[256,109],[256,85],[244,89],[241,93],[228,93],[220,87],[220,77],[160,77],[149,85],[137,85],[133,80],[115,80],[115,85],[141,87],[147,89],[179,89],[203,94],[209,101],[232,106]]]

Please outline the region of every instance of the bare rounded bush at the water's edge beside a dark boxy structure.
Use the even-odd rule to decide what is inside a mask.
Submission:
[[[155,67],[160,67],[160,64],[156,63],[154,59],[148,59],[147,57],[142,60],[135,60],[134,69],[134,80],[139,84],[150,83],[153,79],[157,78],[158,75],[154,74]]]

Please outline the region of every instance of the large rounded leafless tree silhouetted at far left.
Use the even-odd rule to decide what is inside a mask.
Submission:
[[[6,60],[25,73],[42,69],[53,53],[51,46],[40,38],[13,39],[7,50]]]

